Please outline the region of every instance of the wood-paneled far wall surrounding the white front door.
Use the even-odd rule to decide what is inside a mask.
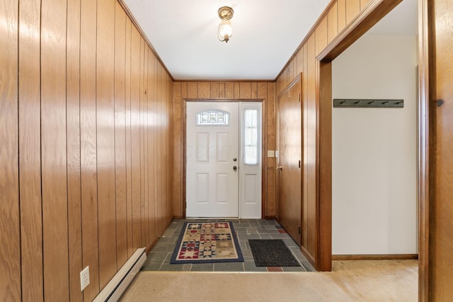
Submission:
[[[173,83],[173,215],[185,215],[183,192],[183,106],[185,99],[263,100],[263,149],[275,150],[275,83],[248,81],[176,81]],[[275,157],[263,156],[263,215],[275,217]]]

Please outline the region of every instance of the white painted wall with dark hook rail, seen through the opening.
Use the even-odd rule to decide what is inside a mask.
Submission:
[[[415,37],[365,35],[333,61],[333,98],[404,108],[333,108],[333,255],[417,253]]]

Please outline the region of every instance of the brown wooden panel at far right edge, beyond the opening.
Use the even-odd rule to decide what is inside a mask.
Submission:
[[[452,301],[453,294],[452,11],[452,0],[435,1],[435,77],[430,108],[430,301]]]

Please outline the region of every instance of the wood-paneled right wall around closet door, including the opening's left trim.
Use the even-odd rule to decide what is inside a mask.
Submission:
[[[278,95],[302,72],[302,250],[319,270],[331,269],[330,261],[321,261],[321,258],[331,257],[331,238],[328,238],[331,232],[329,62],[400,1],[331,1],[276,79]],[[326,62],[319,60],[321,54],[326,54],[321,58]]]

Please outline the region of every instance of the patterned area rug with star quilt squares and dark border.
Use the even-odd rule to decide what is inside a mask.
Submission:
[[[243,262],[231,221],[185,222],[171,264]]]

